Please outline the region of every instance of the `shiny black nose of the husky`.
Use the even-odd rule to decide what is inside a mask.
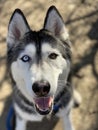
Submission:
[[[47,81],[37,81],[32,85],[32,90],[37,96],[46,96],[50,91],[50,84]]]

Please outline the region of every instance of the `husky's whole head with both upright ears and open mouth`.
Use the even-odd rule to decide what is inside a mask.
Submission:
[[[38,113],[52,110],[53,100],[70,70],[70,46],[64,22],[50,7],[42,30],[31,31],[23,13],[16,9],[8,29],[8,64],[21,93]],[[59,86],[59,87],[58,87]]]

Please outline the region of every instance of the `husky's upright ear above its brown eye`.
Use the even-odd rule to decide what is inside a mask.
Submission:
[[[64,40],[68,39],[69,35],[65,28],[64,21],[55,6],[51,6],[47,11],[44,29]]]

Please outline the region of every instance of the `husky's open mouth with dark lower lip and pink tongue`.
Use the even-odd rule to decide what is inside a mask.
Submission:
[[[34,98],[35,107],[39,114],[47,115],[52,110],[53,97]]]

